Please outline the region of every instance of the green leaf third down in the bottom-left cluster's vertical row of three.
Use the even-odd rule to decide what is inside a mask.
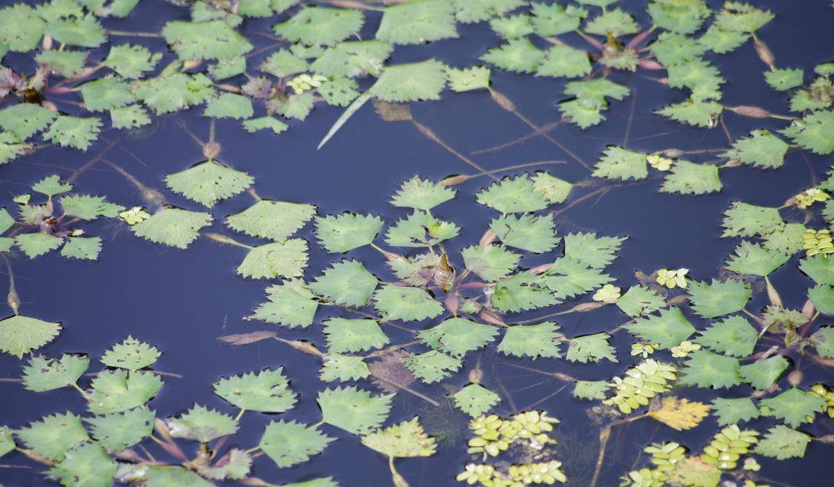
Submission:
[[[153,418],[151,409],[136,408],[85,420],[99,444],[106,449],[118,451],[130,448],[150,436],[153,432]]]

